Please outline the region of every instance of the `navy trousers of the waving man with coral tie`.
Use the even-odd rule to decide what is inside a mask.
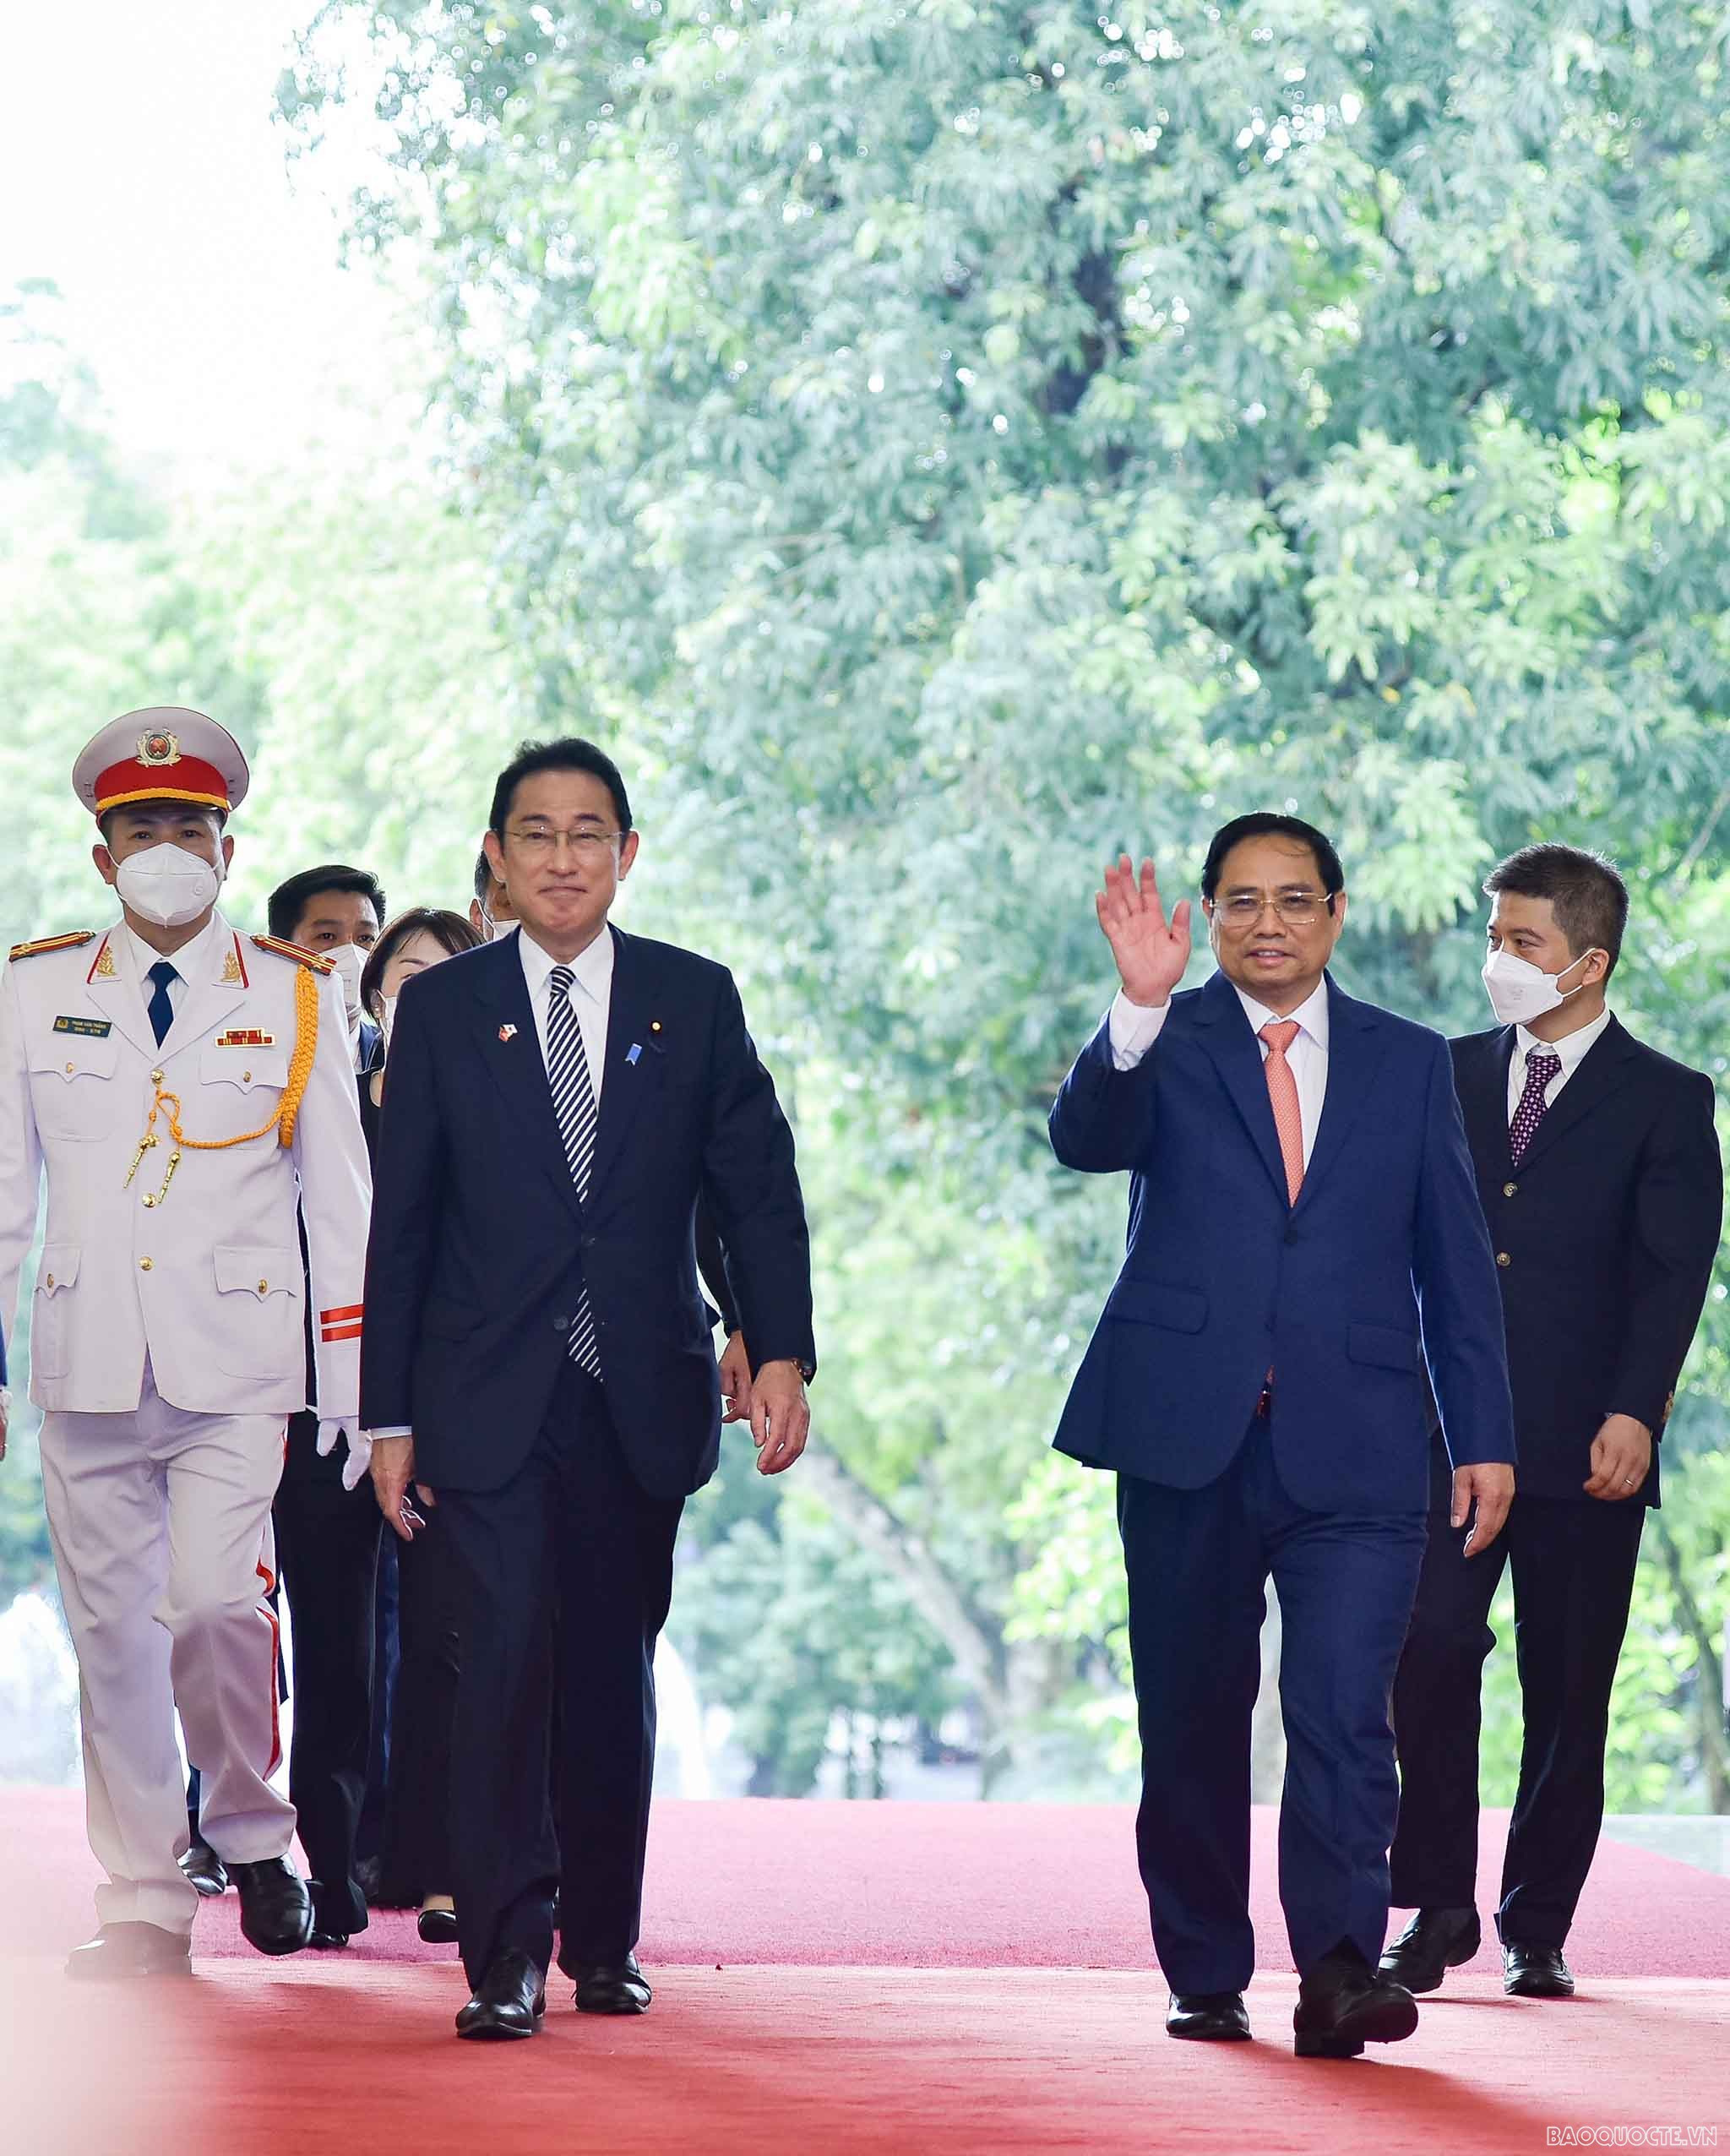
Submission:
[[[1118,1526],[1142,1731],[1135,1848],[1172,1990],[1241,1992],[1256,1968],[1250,1718],[1269,1576],[1284,1623],[1280,1904],[1293,1958],[1308,1973],[1344,1943],[1372,1962],[1398,1805],[1387,1686],[1424,1514],[1308,1511],[1256,1421],[1200,1490],[1120,1475]]]

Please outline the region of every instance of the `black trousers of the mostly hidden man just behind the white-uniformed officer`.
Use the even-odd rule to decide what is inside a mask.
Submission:
[[[289,1796],[321,1930],[364,1932],[355,1828],[373,1736],[373,1589],[383,1516],[371,1483],[343,1488],[343,1447],[317,1455],[319,1423],[289,1423],[271,1507],[276,1565],[293,1632]]]

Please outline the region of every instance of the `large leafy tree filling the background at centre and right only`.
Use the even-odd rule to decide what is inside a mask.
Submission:
[[[855,1160],[842,1498],[941,1514],[969,1621],[1019,1580],[1086,1695],[1110,1516],[1041,1445],[1118,1192],[1041,1115],[1105,1000],[1101,856],[1183,886],[1288,804],[1349,862],[1347,983],[1463,1028],[1489,860],[1603,845],[1622,1009],[1726,1069],[1719,11],[332,0],[306,138],[355,30],[401,172],[358,229],[433,263],[534,694],[702,804],[687,895]],[[1715,1296],[1672,1451],[1726,1434]],[[1730,1511],[1672,1492],[1704,1632]],[[1687,1636],[1648,1563],[1629,1667],[1678,1727]]]

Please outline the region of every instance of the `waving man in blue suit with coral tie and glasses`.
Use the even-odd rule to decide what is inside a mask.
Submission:
[[[1428,1360],[1454,1514],[1495,1542],[1512,1494],[1508,1369],[1448,1048],[1344,996],[1340,860],[1250,815],[1209,847],[1219,970],[1172,994],[1189,903],[1153,865],[1097,899],[1122,990],[1051,1108],[1073,1169],[1127,1169],[1129,1255],[1058,1447],[1118,1475],[1142,1731],[1135,1841],[1178,2037],[1247,2037],[1250,1716],[1280,1593],[1280,1897],[1295,2048],[1418,2027],[1377,1973],[1387,1925],[1387,1686],[1424,1552]]]

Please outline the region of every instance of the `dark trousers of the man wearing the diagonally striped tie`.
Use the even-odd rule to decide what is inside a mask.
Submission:
[[[459,1565],[450,1839],[463,1968],[478,1984],[511,1947],[545,1968],[554,1889],[560,1966],[623,1962],[642,1915],[655,1639],[683,1498],[642,1490],[605,1393],[575,1365],[502,1490],[437,1498]],[[554,1667],[558,1835],[547,1796]]]

